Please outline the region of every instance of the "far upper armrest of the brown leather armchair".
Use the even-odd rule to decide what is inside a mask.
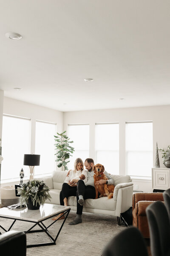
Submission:
[[[163,193],[135,193],[133,194],[133,209],[139,201],[164,201]]]

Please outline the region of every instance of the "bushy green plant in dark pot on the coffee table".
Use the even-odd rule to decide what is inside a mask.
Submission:
[[[51,198],[48,186],[40,180],[30,180],[17,188],[20,195],[20,204],[27,204],[28,209],[39,209],[45,200]],[[51,201],[51,200],[50,200]]]

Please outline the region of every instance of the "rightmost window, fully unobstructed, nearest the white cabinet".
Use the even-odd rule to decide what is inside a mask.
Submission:
[[[127,175],[151,177],[153,167],[152,122],[126,123]]]

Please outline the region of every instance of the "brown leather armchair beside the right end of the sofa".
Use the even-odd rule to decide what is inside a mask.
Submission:
[[[164,201],[163,193],[135,193],[133,194],[133,226],[137,227],[144,238],[150,238],[146,216],[146,208],[154,201]]]

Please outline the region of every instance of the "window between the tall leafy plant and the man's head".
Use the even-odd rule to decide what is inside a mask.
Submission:
[[[73,140],[73,157],[70,157],[68,169],[74,168],[74,161],[80,157],[83,162],[89,157],[89,125],[68,125],[68,137]]]

